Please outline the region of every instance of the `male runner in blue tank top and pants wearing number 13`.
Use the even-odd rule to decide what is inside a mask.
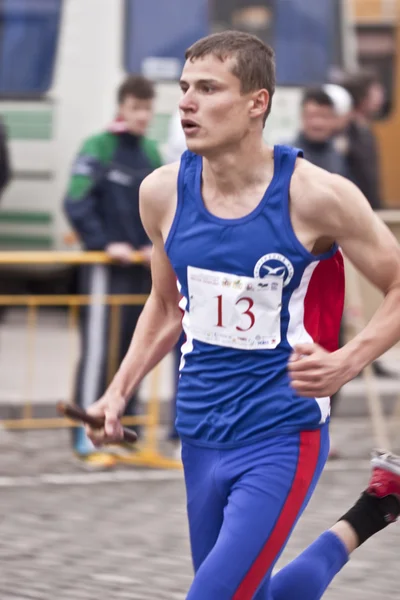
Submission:
[[[228,31],[186,53],[189,150],[141,187],[153,288],[130,349],[90,412],[118,440],[139,382],[182,348],[177,428],[195,578],[189,600],[316,600],[350,552],[400,513],[400,460],[378,454],[356,505],[271,572],[322,472],[329,396],[400,339],[400,251],[359,190],[263,142],[272,50]],[[340,350],[338,245],[385,294]],[[176,286],[179,282],[179,290]]]

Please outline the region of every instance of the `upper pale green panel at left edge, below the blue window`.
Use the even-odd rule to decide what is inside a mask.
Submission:
[[[12,140],[51,140],[53,110],[5,109],[1,113]]]

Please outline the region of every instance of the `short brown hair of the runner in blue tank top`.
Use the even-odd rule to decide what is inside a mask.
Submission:
[[[186,60],[194,61],[211,54],[219,60],[234,57],[232,73],[239,79],[242,94],[266,89],[270,99],[264,123],[271,112],[275,92],[275,53],[258,37],[242,31],[222,31],[198,40],[186,50]]]

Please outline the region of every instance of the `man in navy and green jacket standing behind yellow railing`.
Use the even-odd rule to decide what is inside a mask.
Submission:
[[[142,310],[142,306],[123,306],[113,321],[102,299],[108,294],[148,294],[151,288],[148,264],[133,265],[131,256],[139,250],[149,262],[151,252],[140,220],[139,187],[161,165],[157,145],[146,137],[153,114],[153,84],[142,76],[130,76],[117,99],[118,114],[110,128],[83,143],[64,201],[82,246],[103,250],[114,260],[111,265],[85,266],[80,273],[79,292],[92,297],[81,311],[82,355],[75,389],[75,402],[85,409],[101,396],[126,354]],[[116,335],[115,323],[117,349],[115,342],[108,343],[110,335]],[[134,395],[127,414],[135,414],[136,408]],[[83,428],[74,431],[79,457],[95,466],[112,466],[114,459],[94,452]]]

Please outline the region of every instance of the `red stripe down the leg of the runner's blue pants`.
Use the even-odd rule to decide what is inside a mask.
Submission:
[[[270,570],[296,522],[314,478],[321,445],[320,431],[300,434],[300,451],[292,487],[274,529],[250,567],[232,600],[251,600]]]

